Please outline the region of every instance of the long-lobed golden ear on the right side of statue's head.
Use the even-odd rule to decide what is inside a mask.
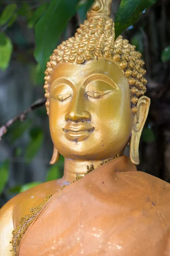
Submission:
[[[138,111],[134,116],[134,125],[130,139],[130,160],[134,164],[139,164],[139,141],[150,107],[150,99],[146,96],[139,98]]]

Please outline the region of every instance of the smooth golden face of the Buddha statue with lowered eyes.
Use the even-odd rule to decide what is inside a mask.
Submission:
[[[133,126],[123,71],[107,60],[58,64],[51,75],[49,122],[64,157],[102,160],[120,153]]]

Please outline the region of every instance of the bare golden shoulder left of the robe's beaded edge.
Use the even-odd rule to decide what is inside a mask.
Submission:
[[[13,256],[9,241],[19,219],[27,215],[31,207],[42,204],[47,195],[54,195],[60,189],[60,180],[42,183],[11,198],[0,209],[0,256]]]

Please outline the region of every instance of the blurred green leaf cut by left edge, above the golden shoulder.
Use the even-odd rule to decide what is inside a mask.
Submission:
[[[0,194],[6,186],[9,177],[9,160],[3,162],[0,166]]]

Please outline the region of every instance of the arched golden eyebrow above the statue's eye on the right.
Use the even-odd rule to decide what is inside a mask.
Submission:
[[[101,73],[96,73],[93,74],[91,76],[88,76],[88,78],[86,78],[82,84],[84,84],[84,86],[86,87],[88,84],[90,84],[92,81],[103,81],[105,83],[110,84],[111,86],[113,86],[116,90],[118,90],[118,86],[117,84],[115,84],[115,82],[113,82],[113,80],[109,77],[106,76],[105,74],[101,74]]]

